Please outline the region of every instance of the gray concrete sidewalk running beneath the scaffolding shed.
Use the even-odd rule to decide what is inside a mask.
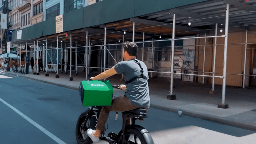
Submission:
[[[56,78],[54,70],[48,71],[49,77],[46,77],[45,72],[33,75],[31,68],[29,69],[30,73],[27,75],[12,72],[12,70],[6,73],[74,90],[79,89],[81,80],[86,80],[85,72],[78,72],[76,75],[76,72],[72,71],[71,76],[74,80],[69,81],[70,71],[67,71],[68,74],[65,72],[61,74],[59,71],[60,78]],[[92,73],[88,79],[96,75]],[[125,84],[121,81],[121,75],[111,76],[107,80],[112,85]],[[214,94],[209,94],[212,84],[174,81],[174,85],[173,93],[176,94],[176,100],[167,100],[167,93],[170,93],[170,81],[167,78],[149,79],[150,107],[174,113],[178,113],[181,109],[182,115],[256,131],[256,89],[227,87],[225,102],[229,108],[222,109],[217,107],[222,99],[221,85],[215,85]],[[114,96],[118,95],[124,95],[124,91],[116,90]]]

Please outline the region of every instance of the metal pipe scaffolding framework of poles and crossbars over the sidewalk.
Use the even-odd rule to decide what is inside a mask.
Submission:
[[[151,63],[151,67],[148,68],[148,69],[151,69],[151,71],[148,71],[148,73],[151,74],[151,77],[152,77],[152,74],[153,73],[162,73],[162,74],[170,74],[171,75],[171,80],[170,80],[170,93],[167,94],[167,97],[175,97],[176,95],[173,93],[173,80],[176,76],[178,75],[185,75],[185,76],[202,76],[203,79],[203,83],[204,83],[204,77],[212,77],[212,91],[211,92],[214,92],[214,85],[215,85],[215,78],[221,78],[222,79],[222,99],[221,99],[221,103],[218,105],[218,108],[228,108],[228,104],[225,102],[225,95],[226,95],[226,79],[227,79],[227,75],[240,75],[240,76],[243,76],[243,88],[245,87],[245,76],[255,76],[255,75],[246,75],[245,74],[245,70],[246,70],[246,53],[247,53],[247,49],[250,49],[250,48],[247,48],[247,44],[256,44],[256,43],[247,43],[247,35],[248,35],[248,30],[246,30],[246,39],[245,39],[245,43],[239,43],[239,44],[245,44],[245,54],[244,54],[244,71],[243,71],[243,74],[233,74],[233,73],[227,73],[227,46],[228,45],[235,45],[235,44],[228,44],[228,29],[229,29],[229,26],[228,26],[228,22],[229,22],[229,4],[226,5],[226,15],[221,15],[221,16],[226,16],[226,23],[225,23],[225,34],[224,35],[221,35],[221,36],[218,36],[217,35],[217,31],[218,31],[218,23],[216,23],[215,25],[215,35],[214,36],[206,36],[206,33],[205,33],[205,36],[202,36],[202,37],[187,37],[187,38],[175,38],[175,26],[176,26],[176,15],[173,14],[173,22],[170,23],[172,24],[172,38],[169,39],[164,39],[164,40],[155,40],[154,38],[152,38],[152,40],[148,40],[148,41],[145,41],[145,32],[143,32],[143,37],[142,37],[142,41],[141,42],[135,42],[135,38],[136,39],[140,39],[141,37],[135,37],[135,31],[137,29],[141,29],[141,28],[137,28],[135,29],[135,22],[132,22],[132,26],[133,26],[133,29],[132,29],[132,42],[136,43],[136,44],[142,44],[142,47],[139,47],[138,50],[141,49],[142,51],[142,58],[141,58],[141,61],[144,62],[144,52],[146,52],[146,54],[148,54],[147,52],[150,52],[151,54],[151,62],[148,62],[148,63]],[[233,15],[233,14],[232,14]],[[212,18],[212,17],[211,17]],[[160,25],[159,25],[160,26]],[[154,26],[153,26],[154,27]],[[119,31],[120,32],[120,31]],[[125,31],[124,31],[125,32]],[[88,35],[88,31],[86,31],[86,42],[84,46],[78,46],[78,42],[76,41],[73,46],[73,43],[72,43],[72,34],[70,33],[69,35],[66,35],[66,36],[62,36],[62,37],[59,37],[57,36],[57,47],[55,48],[55,53],[52,55],[52,50],[53,50],[53,47],[51,45],[51,51],[49,51],[48,49],[48,40],[46,38],[46,40],[43,40],[43,41],[34,41],[34,43],[30,43],[28,45],[31,45],[31,44],[34,44],[34,57],[35,59],[39,57],[39,52],[43,52],[43,56],[44,56],[44,71],[45,71],[45,74],[46,76],[49,76],[48,74],[48,66],[56,66],[57,70],[55,69],[54,67],[54,70],[56,72],[56,78],[59,78],[59,75],[58,75],[58,71],[59,71],[59,63],[61,65],[61,73],[62,73],[62,66],[63,66],[63,63],[62,63],[62,59],[64,59],[65,63],[64,63],[64,68],[65,68],[65,73],[67,74],[67,67],[68,67],[68,54],[70,54],[70,78],[69,80],[72,81],[73,80],[73,77],[71,75],[71,71],[72,71],[72,67],[75,68],[75,71],[76,71],[76,75],[78,75],[78,71],[77,71],[77,68],[84,68],[84,71],[86,73],[86,80],[90,79],[88,78],[88,74],[89,72],[91,71],[90,69],[91,68],[98,68],[103,71],[105,71],[106,69],[109,69],[107,67],[113,67],[113,66],[107,66],[106,65],[106,56],[107,56],[107,52],[108,52],[108,58],[111,58],[115,61],[115,64],[118,63],[118,61],[123,61],[123,58],[122,59],[119,59],[117,60],[117,51],[121,51],[122,52],[122,48],[123,48],[123,45],[124,45],[124,35],[122,36],[123,38],[123,41],[122,43],[117,43],[116,44],[107,44],[107,34],[113,34],[113,33],[117,33],[117,32],[111,32],[111,33],[107,33],[107,28],[104,27],[104,34],[97,34],[97,35],[104,35],[104,44],[99,44],[99,45],[93,45],[92,46],[92,41],[90,41],[90,39],[88,39],[88,36],[97,36],[97,35]],[[62,35],[62,34],[61,34]],[[161,36],[161,35],[160,35]],[[163,35],[162,35],[163,36]],[[85,36],[80,36],[79,38],[82,38],[82,37],[85,37]],[[75,38],[78,38],[78,37],[75,37]],[[74,38],[74,39],[75,39]],[[194,44],[194,45],[183,45],[183,46],[180,46],[180,47],[196,47],[196,46],[204,46],[204,49],[175,49],[175,41],[178,41],[178,40],[188,40],[188,39],[200,39],[200,38],[204,38],[204,45],[199,45],[199,44]],[[210,44],[210,45],[207,45],[206,44],[206,38],[214,38],[214,44]],[[217,44],[217,38],[224,38],[225,41],[224,41],[224,44]],[[68,40],[70,39],[70,43],[68,44],[68,47],[67,47],[67,43],[65,44],[65,47],[62,47],[62,40]],[[127,38],[128,40],[130,40],[131,38]],[[61,40],[61,46],[59,48],[59,41]],[[103,40],[103,39],[100,39],[100,40]],[[118,40],[118,39],[117,39]],[[97,43],[100,43],[99,40],[95,40],[97,41]],[[43,42],[43,43],[42,43]],[[44,43],[45,42],[45,43]],[[53,42],[53,41],[52,41]],[[119,39],[119,42],[120,42],[120,39]],[[154,59],[154,52],[157,52],[158,50],[156,50],[155,48],[163,48],[163,47],[160,47],[160,46],[154,46],[154,43],[155,42],[171,42],[172,46],[165,46],[165,47],[168,47],[168,48],[171,48],[165,55],[164,57],[171,53],[171,60],[169,62],[169,65],[171,67],[171,69],[161,69],[158,65],[159,65],[159,62],[156,63]],[[37,43],[37,50],[36,50],[36,45],[35,43]],[[38,43],[39,44],[45,44],[46,47],[42,47],[43,50],[40,48],[40,51],[39,51],[39,47],[38,46]],[[144,44],[145,43],[148,43],[148,44],[151,44],[152,45],[149,45],[148,47],[144,47]],[[82,44],[82,43],[81,43]],[[91,44],[91,45],[90,45]],[[117,49],[117,46],[120,45],[122,48],[121,49]],[[223,58],[223,73],[216,73],[215,72],[215,65],[216,65],[216,46],[218,45],[224,45],[224,58]],[[21,45],[20,45],[21,46]],[[115,55],[113,56],[111,54],[111,51],[112,49],[110,49],[110,46],[116,46],[116,48],[114,49],[115,51]],[[206,46],[214,46],[214,56],[213,56],[213,71],[212,72],[205,72],[205,52],[206,52]],[[93,50],[92,47],[104,47],[104,49],[97,49],[97,50]],[[27,48],[27,43],[26,43],[26,48]],[[61,62],[59,62],[59,49],[60,49],[60,60]],[[68,53],[68,49],[70,49],[70,53]],[[151,51],[149,50],[145,50],[145,49],[151,49]],[[154,50],[155,49],[155,50]],[[72,51],[74,50],[74,51]],[[55,56],[56,54],[56,51],[57,51],[57,62],[54,63],[53,62],[53,57]],[[99,51],[101,53],[101,67],[92,67],[91,66],[91,52],[92,51]],[[175,52],[180,52],[180,51],[204,51],[204,58],[203,58],[203,69],[202,72],[198,71],[200,69],[195,69],[195,68],[192,68],[192,69],[189,69],[189,68],[174,68],[174,55],[175,55]],[[28,51],[28,52],[32,52],[32,51]],[[75,53],[75,65],[72,65],[72,52]],[[82,60],[82,56],[81,55],[84,55],[84,59]],[[45,56],[46,55],[46,56]],[[27,49],[26,49],[26,56],[27,56]],[[42,56],[42,55],[41,55]],[[50,60],[51,60],[51,63],[48,63],[47,62],[47,57],[50,57]],[[18,58],[18,57],[17,57]],[[181,57],[180,57],[181,58]],[[103,60],[103,62],[102,62]],[[148,58],[149,60],[149,58]],[[21,58],[20,58],[20,61],[21,61]],[[78,64],[78,61],[79,61],[79,64]],[[184,63],[184,60],[182,60],[183,63]],[[182,62],[182,61],[178,61],[178,62]],[[103,63],[103,67],[102,67],[102,63]],[[188,63],[189,64],[189,63]],[[36,65],[36,71],[37,71],[37,74],[38,74],[38,61],[37,63],[35,63]],[[20,65],[19,65],[20,66]],[[158,68],[156,68],[158,67]],[[153,70],[162,70],[162,71],[153,71]],[[199,75],[199,74],[190,74],[188,73],[188,70],[190,70],[189,72],[193,72],[193,73],[203,73],[202,75]],[[193,70],[193,71],[192,71]],[[197,70],[197,71],[195,71]],[[165,71],[168,71],[168,72],[165,72]],[[180,72],[174,72],[174,71],[180,71]],[[207,74],[211,74],[211,75],[205,75],[205,73]],[[215,74],[222,74],[222,76],[215,76]],[[176,75],[174,77],[174,75]],[[123,75],[122,75],[122,78],[123,78]]]

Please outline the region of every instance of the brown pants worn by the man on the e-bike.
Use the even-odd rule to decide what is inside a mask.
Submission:
[[[110,111],[129,111],[132,109],[140,108],[132,104],[132,102],[125,96],[117,97],[112,100],[111,106],[103,106],[100,111],[100,116],[96,125],[96,129],[104,130],[105,124],[108,120]],[[148,110],[148,108],[146,108]],[[130,118],[126,120],[126,125],[130,124]]]

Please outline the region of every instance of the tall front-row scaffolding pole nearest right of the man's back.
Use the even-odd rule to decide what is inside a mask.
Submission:
[[[174,38],[175,38],[175,14],[173,14],[172,24],[172,60],[171,60],[171,90],[170,94],[167,95],[167,99],[175,100],[175,94],[173,94],[173,60],[174,60]],[[168,97],[170,96],[170,97]]]

